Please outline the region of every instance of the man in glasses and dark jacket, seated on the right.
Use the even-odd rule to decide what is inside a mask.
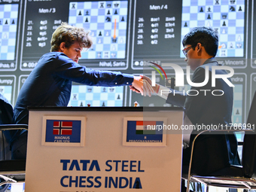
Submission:
[[[222,78],[216,78],[215,87],[212,87],[212,66],[220,66],[215,59],[218,50],[218,35],[212,29],[198,27],[192,29],[184,36],[185,62],[194,71],[192,82],[202,83],[206,78],[206,66],[209,67],[209,81],[203,87],[191,87],[190,94],[175,95],[161,93],[166,87],[156,84],[154,90],[166,102],[181,106],[185,109],[185,115],[194,125],[219,125],[231,123],[233,108],[233,87],[230,87]],[[225,70],[216,70],[218,75],[227,75]],[[151,84],[151,79],[144,78]],[[230,81],[230,78],[228,78]],[[134,90],[133,88],[131,88]],[[197,92],[192,91],[197,90]],[[204,91],[207,90],[205,93]],[[212,90],[222,90],[222,96],[214,96]],[[136,90],[134,90],[136,91]],[[166,93],[166,94],[165,94]],[[194,94],[194,96],[193,96]],[[216,93],[217,94],[217,93]],[[221,95],[221,94],[218,94]],[[190,146],[194,137],[200,130],[193,130],[190,135]],[[183,172],[187,173],[190,160],[190,147],[183,151]],[[191,172],[207,175],[217,172],[230,164],[239,165],[236,136],[233,133],[203,134],[197,138],[192,161]]]

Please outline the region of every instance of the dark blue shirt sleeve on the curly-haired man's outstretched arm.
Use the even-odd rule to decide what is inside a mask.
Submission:
[[[56,75],[80,84],[90,86],[124,86],[133,83],[133,75],[88,69],[69,59],[64,53],[56,57]]]

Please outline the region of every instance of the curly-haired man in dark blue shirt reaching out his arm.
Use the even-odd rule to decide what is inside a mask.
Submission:
[[[28,106],[67,106],[72,81],[90,86],[130,85],[140,93],[154,93],[148,81],[142,77],[87,69],[78,64],[81,51],[90,48],[93,42],[83,28],[62,23],[53,32],[50,53],[39,59],[37,66],[26,79],[14,107],[14,123],[29,122]],[[12,133],[11,150],[13,159],[26,158],[27,132]]]

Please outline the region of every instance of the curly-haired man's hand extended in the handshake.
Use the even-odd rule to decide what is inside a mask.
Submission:
[[[151,96],[151,93],[154,93],[151,84],[139,76],[134,76],[133,84],[130,86],[130,90],[133,90],[136,93],[141,93],[142,96]]]

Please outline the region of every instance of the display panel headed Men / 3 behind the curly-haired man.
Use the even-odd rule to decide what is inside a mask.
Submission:
[[[81,65],[93,69],[128,69],[129,1],[62,0],[60,5],[58,1],[27,1],[25,5],[20,70],[31,71],[38,59],[50,51],[51,35],[62,22],[90,31],[93,46],[81,54]]]

